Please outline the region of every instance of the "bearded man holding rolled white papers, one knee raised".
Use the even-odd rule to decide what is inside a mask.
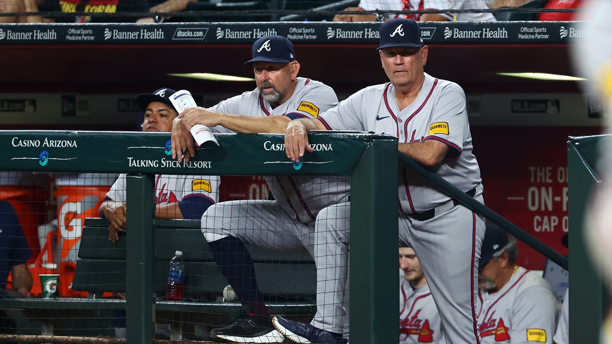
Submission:
[[[284,133],[293,119],[316,118],[338,103],[329,86],[297,77],[300,64],[293,43],[283,36],[256,40],[252,59],[245,65],[253,67],[257,88],[223,100],[212,108],[185,110],[174,121],[173,158],[181,161],[184,149],[189,152],[185,160],[193,157],[189,129],[194,124],[207,125],[212,132]],[[296,168],[300,166],[297,164]],[[272,326],[245,242],[266,250],[301,250],[312,256],[326,256],[335,252],[335,248],[328,247],[328,242],[332,245],[336,242],[330,239],[316,241],[315,234],[324,238],[327,234],[333,235],[330,228],[348,226],[345,224],[348,215],[336,211],[337,204],[349,200],[348,177],[277,176],[266,177],[266,182],[273,201],[222,202],[209,208],[202,217],[202,233],[220,271],[245,310],[233,324],[211,331],[211,339],[218,342],[276,343],[285,340]],[[328,263],[333,260],[335,257],[330,257]],[[330,280],[335,282],[329,275],[319,275],[319,272],[327,271],[317,270],[318,291],[328,288]],[[347,272],[341,267],[334,274],[346,275]],[[313,323],[327,331],[305,337],[300,343],[345,343],[343,334],[348,332],[348,316],[321,316],[333,313],[334,308],[348,315],[348,304],[343,301],[317,297],[318,313]]]

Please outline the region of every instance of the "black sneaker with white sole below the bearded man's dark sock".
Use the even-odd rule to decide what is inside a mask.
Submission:
[[[241,315],[233,324],[211,331],[211,340],[223,343],[282,343],[272,320],[264,315]]]

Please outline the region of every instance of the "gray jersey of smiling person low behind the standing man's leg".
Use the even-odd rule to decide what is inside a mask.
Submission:
[[[400,276],[400,344],[444,344],[442,323],[429,286],[412,288]]]

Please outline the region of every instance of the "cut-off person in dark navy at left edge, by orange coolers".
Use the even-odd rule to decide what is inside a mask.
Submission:
[[[31,256],[32,250],[21,230],[15,208],[7,201],[0,201],[0,290],[3,294],[10,272],[12,290],[6,290],[6,294],[31,297],[32,275],[26,266]],[[0,333],[15,333],[15,322],[4,310],[0,310]]]

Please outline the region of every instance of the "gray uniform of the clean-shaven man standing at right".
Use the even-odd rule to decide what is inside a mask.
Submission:
[[[398,137],[402,143],[437,140],[447,144],[449,155],[436,174],[483,203],[480,169],[472,154],[465,94],[457,84],[426,73],[417,99],[401,111],[391,83],[370,86],[318,119],[330,130],[386,133]],[[400,241],[409,244],[419,256],[440,310],[447,343],[478,343],[474,305],[477,260],[485,221],[469,209],[456,206],[449,196],[405,167],[399,173]],[[343,237],[349,242],[348,228],[338,231],[342,235],[334,237]],[[344,244],[337,242],[337,249]],[[328,247],[331,246],[328,244]],[[324,262],[316,263],[319,267]],[[330,291],[334,292],[343,293]]]

